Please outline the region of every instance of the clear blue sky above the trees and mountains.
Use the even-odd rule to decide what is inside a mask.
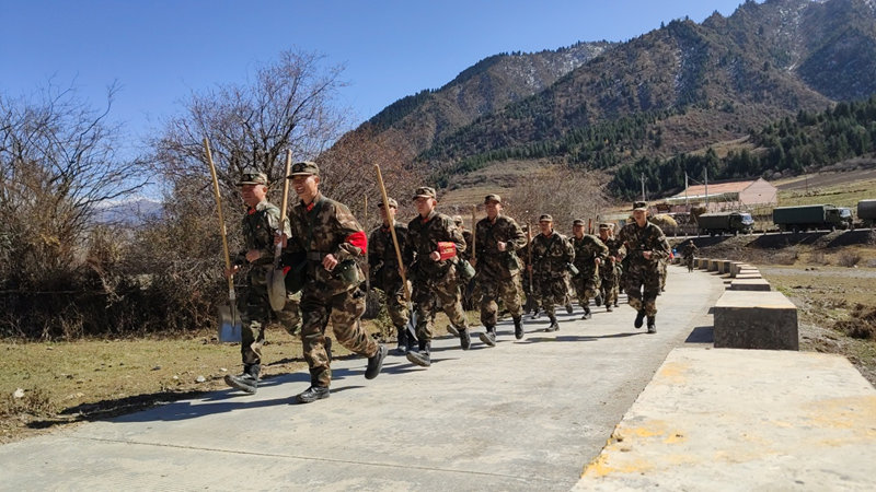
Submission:
[[[117,81],[111,117],[136,139],[193,91],[303,49],[345,66],[338,104],[360,122],[497,52],[626,40],[685,15],[729,15],[741,1],[0,0],[0,92],[28,95],[53,80],[100,107]]]

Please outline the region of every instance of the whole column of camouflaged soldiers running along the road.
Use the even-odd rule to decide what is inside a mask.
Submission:
[[[590,300],[612,312],[621,284],[636,309],[634,326],[641,328],[647,318],[647,331],[656,332],[656,297],[665,276],[660,262],[669,258],[670,249],[662,231],[647,221],[644,202],[634,204],[633,221],[616,237],[612,224],[599,224],[596,236],[585,234],[584,221],[575,220],[567,238],[554,230],[553,218],[545,213],[539,218],[538,234],[530,238],[530,231],[502,213],[502,197],[491,194],[484,198],[486,216],[463,237],[461,220],[436,210],[435,189],[419,187],[412,197],[417,215],[406,226],[395,222],[399,202],[387,198],[378,203],[382,224],[366,236],[345,204],[320,192],[315,163],[296,163],[287,178],[299,200],[283,223],[279,208],[266,199],[268,183],[263,173],[245,169],[239,183],[247,206],[242,221],[245,249],[226,274],[234,274],[244,265],[250,270],[249,289],[238,303],[243,372],[226,377],[233,388],[255,394],[258,386],[261,348],[274,301],[269,295],[278,295],[268,292],[266,280],[275,245],[283,248],[286,276],[285,307],[275,311],[275,317],[289,333],[300,333],[310,368],[310,386],[296,396],[299,403],[331,395],[330,323],[338,343],[367,358],[366,378],[381,372],[388,349],[360,323],[367,295],[362,289],[366,262],[370,286],[385,294],[397,340],[394,353],[422,367],[431,365],[438,309],[447,315],[448,331],[459,338],[460,349],[471,348],[462,304],[466,294],[480,309],[484,331],[479,338],[487,347],[496,345],[500,308],[511,316],[515,338],[520,340],[525,309],[543,309],[550,319],[545,331],[556,331],[555,306],[568,309],[569,300],[577,297],[583,319],[590,319]],[[685,250],[688,256],[693,251]]]

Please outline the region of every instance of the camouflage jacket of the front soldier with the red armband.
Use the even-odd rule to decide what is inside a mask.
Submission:
[[[292,234],[287,248],[292,254],[303,253],[307,255],[306,290],[310,288],[338,294],[356,288],[365,280],[365,274],[359,266],[359,261],[365,260],[365,250],[349,243],[350,237],[356,233],[360,233],[365,239],[365,233],[347,206],[318,192],[310,206],[306,206],[299,200],[291,210],[290,219]],[[313,224],[313,238],[308,244],[311,236],[311,223]],[[334,255],[338,263],[354,260],[359,281],[350,285],[338,277],[341,269],[326,270],[322,266],[322,260],[327,254]]]

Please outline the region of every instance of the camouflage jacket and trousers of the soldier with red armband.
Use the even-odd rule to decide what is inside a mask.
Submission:
[[[365,234],[346,206],[320,192],[310,204],[299,201],[292,208],[290,219],[292,234],[288,248],[290,253],[307,255],[301,296],[304,360],[310,366],[311,386],[327,388],[332,382],[331,359],[325,351],[325,328],[330,320],[335,338],[350,352],[370,359],[380,350],[359,323],[365,313],[365,293],[358,289],[365,280],[359,266],[365,251],[348,242],[357,233],[362,238]],[[312,241],[308,242],[311,224]],[[334,255],[338,261],[333,271],[322,266],[327,254]],[[342,277],[345,267],[349,268],[347,271],[353,281]]]

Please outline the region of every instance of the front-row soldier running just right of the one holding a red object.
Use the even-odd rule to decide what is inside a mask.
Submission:
[[[523,338],[523,309],[521,304],[520,270],[517,250],[527,245],[523,231],[514,219],[503,215],[502,197],[487,195],[484,198],[486,218],[475,226],[477,271],[475,279],[481,292],[481,324],[486,332],[481,341],[496,345],[497,302],[502,300],[514,319],[514,335]]]

